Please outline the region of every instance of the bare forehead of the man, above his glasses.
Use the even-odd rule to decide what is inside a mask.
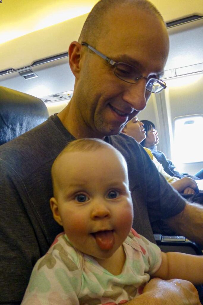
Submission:
[[[142,70],[145,62],[142,63],[139,56],[143,54],[147,61],[156,61],[156,71],[152,72],[163,72],[169,39],[165,24],[159,16],[130,7],[122,11],[117,6],[114,12],[107,14],[105,24],[107,29],[96,45],[100,51],[106,52],[106,56],[113,56],[114,60],[122,60]]]

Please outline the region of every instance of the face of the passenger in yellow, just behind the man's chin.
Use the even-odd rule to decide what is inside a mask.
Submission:
[[[127,135],[133,137],[138,143],[142,142],[146,138],[143,123],[138,120],[137,116],[127,123],[124,127],[124,131]]]

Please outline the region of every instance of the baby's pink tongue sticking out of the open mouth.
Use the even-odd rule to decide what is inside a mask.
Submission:
[[[113,231],[98,231],[94,233],[97,245],[102,250],[110,250],[114,246]]]

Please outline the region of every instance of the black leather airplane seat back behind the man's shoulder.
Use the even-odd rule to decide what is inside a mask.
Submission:
[[[43,123],[48,116],[39,98],[0,86],[0,145]]]

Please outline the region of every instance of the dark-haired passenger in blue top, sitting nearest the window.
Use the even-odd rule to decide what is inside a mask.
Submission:
[[[175,169],[176,166],[172,163],[172,161],[168,160],[163,152],[157,150],[156,145],[159,143],[159,137],[154,123],[148,120],[141,120],[140,122],[143,123],[143,127],[145,128],[146,131],[146,138],[140,144],[151,150],[152,154],[162,164],[167,174],[177,178],[190,177],[195,180],[203,179],[203,169],[198,171],[198,173],[194,174],[193,176],[189,174],[183,174],[177,171]]]

